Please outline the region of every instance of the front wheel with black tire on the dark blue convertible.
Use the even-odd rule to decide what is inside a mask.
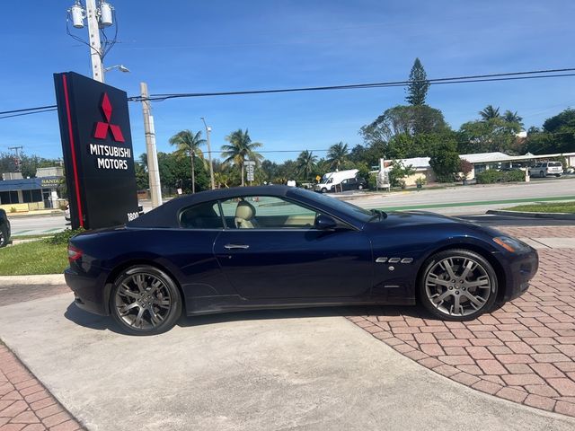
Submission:
[[[497,275],[491,264],[474,251],[440,251],[422,268],[420,301],[440,319],[473,320],[489,312],[497,299]]]

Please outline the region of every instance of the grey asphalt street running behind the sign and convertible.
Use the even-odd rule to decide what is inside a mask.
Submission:
[[[488,209],[513,207],[517,203],[497,201],[541,198],[571,197],[575,200],[575,179],[538,179],[525,184],[485,185],[403,191],[393,193],[356,192],[334,195],[349,200],[360,207],[403,209],[407,207],[434,206],[423,209],[447,216],[480,216]],[[494,202],[495,201],[495,202]],[[470,204],[476,205],[470,205]],[[437,206],[437,207],[436,207]],[[145,211],[148,210],[144,202]],[[18,216],[11,217],[13,235],[55,233],[66,229],[64,216]],[[573,222],[540,221],[535,219],[511,219],[510,217],[476,217],[477,223],[500,225],[553,225]]]

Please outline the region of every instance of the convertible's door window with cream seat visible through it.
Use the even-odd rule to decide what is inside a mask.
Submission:
[[[250,196],[222,201],[229,229],[313,229],[317,213],[291,201]]]

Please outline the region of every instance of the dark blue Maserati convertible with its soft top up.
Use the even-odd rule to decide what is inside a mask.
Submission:
[[[175,198],[68,246],[75,303],[131,334],[187,315],[342,304],[420,303],[471,320],[524,292],[534,249],[476,224],[385,214],[284,186]]]

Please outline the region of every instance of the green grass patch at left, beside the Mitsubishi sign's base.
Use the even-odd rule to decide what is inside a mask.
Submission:
[[[61,274],[68,265],[66,244],[24,242],[0,249],[0,276]]]

